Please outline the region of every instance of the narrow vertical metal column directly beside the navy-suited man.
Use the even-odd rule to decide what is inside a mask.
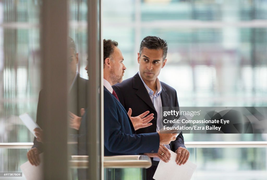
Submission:
[[[101,66],[100,50],[100,0],[88,0],[87,2],[89,71],[89,96],[87,101],[87,139],[89,140],[87,144],[89,154],[88,175],[90,180],[100,180],[103,179],[103,147],[101,147],[101,132],[103,134],[103,120],[101,120],[101,94],[103,94],[101,72],[103,71],[103,65]]]

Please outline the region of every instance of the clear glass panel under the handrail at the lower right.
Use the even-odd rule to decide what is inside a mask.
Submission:
[[[192,179],[266,179],[266,152],[266,148],[197,148]]]

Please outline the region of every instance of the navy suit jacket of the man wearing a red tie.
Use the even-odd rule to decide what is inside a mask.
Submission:
[[[121,103],[104,87],[104,155],[158,152],[159,134],[135,134]]]

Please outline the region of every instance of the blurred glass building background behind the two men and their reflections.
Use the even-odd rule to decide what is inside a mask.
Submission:
[[[87,1],[69,4],[69,36],[79,53],[78,72],[87,79]],[[142,39],[159,36],[168,43],[159,80],[176,89],[180,106],[267,106],[266,0],[102,0],[101,8],[103,38],[119,42],[127,67],[124,79],[138,72]],[[40,0],[0,0],[1,143],[33,142],[18,115],[28,112],[36,119],[42,88],[40,11]],[[266,138],[184,134],[186,142]],[[218,172],[226,171],[233,173],[226,179],[238,179],[241,171],[246,173],[240,179],[266,179],[266,148],[189,150],[190,160],[198,164],[197,179],[218,178]],[[0,172],[20,172],[27,152],[0,148]],[[124,174],[129,179],[127,170]]]

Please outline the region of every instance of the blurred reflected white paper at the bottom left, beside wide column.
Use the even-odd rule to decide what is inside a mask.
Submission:
[[[38,166],[31,165],[29,161],[20,166],[22,173],[27,180],[43,179],[43,153],[39,154],[40,164]]]

